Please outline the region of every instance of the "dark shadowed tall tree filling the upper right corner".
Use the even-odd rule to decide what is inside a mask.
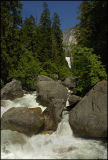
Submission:
[[[76,30],[77,41],[80,45],[94,49],[100,55],[102,63],[107,66],[107,1],[82,1],[79,6],[80,23]]]

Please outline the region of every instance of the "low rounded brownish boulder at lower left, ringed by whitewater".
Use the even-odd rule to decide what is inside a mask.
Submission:
[[[3,114],[1,129],[31,136],[44,129],[44,117],[39,108],[13,107]]]

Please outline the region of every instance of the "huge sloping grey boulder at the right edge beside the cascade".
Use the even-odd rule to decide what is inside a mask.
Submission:
[[[107,137],[107,81],[98,82],[70,111],[69,123],[81,137]]]

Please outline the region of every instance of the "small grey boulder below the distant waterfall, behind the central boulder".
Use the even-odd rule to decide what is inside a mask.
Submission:
[[[68,77],[62,82],[62,84],[68,87],[69,89],[73,89],[76,87],[76,79],[72,77]]]

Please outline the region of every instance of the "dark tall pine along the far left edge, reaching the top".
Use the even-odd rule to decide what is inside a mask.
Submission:
[[[19,1],[1,1],[1,79],[4,83],[9,70],[16,67],[20,52],[21,8]]]

